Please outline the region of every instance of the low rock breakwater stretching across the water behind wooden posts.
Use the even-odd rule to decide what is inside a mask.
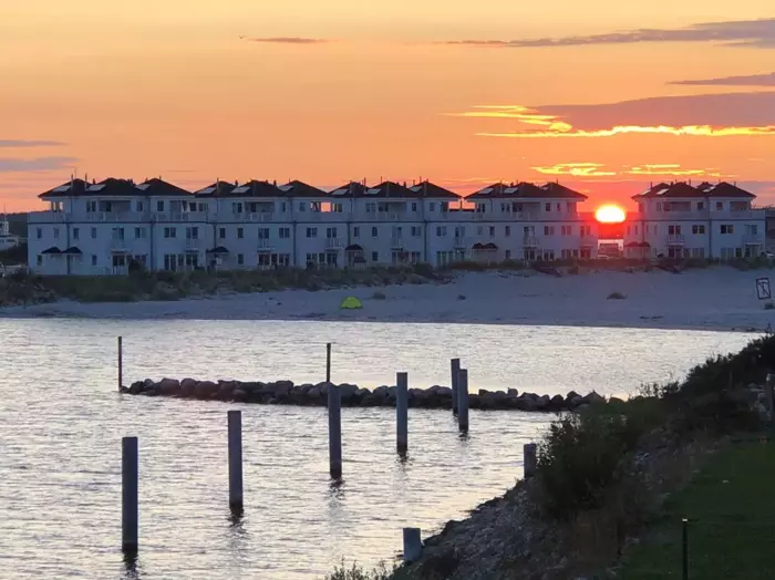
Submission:
[[[304,383],[292,381],[245,382],[245,381],[197,381],[195,379],[146,379],[131,386],[122,387],[122,393],[143,396],[170,396],[195,398],[199,401],[224,401],[237,403],[256,403],[262,405],[326,406],[329,389],[338,389],[342,406],[351,407],[391,407],[395,406],[395,386],[378,386],[370,391],[354,384]],[[538,395],[519,393],[516,389],[508,391],[479,390],[468,394],[469,408],[492,411],[528,411],[557,413],[576,411],[590,403],[603,402],[604,398],[591,392],[579,395],[570,392],[566,395]],[[409,406],[416,408],[452,408],[452,389],[434,385],[427,389],[410,389]]]

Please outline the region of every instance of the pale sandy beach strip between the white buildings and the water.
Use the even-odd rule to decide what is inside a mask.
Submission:
[[[768,271],[716,267],[664,271],[599,271],[556,278],[537,272],[461,273],[444,284],[323,291],[288,290],[175,302],[58,302],[0,310],[0,317],[190,320],[344,320],[764,330],[775,310],[756,297]],[[385,299],[374,298],[382,292]],[[627,298],[608,299],[612,292]],[[361,310],[342,310],[354,296]],[[463,298],[465,297],[465,298]]]

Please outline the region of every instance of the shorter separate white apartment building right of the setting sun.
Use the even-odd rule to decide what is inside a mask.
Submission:
[[[755,195],[721,182],[658,184],[632,197],[628,217],[628,257],[716,258],[760,256],[765,248],[765,210],[753,209]]]

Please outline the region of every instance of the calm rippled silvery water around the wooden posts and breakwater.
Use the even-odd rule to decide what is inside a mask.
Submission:
[[[665,330],[328,322],[0,320],[0,576],[311,580],[342,556],[390,559],[401,528],[425,534],[502,494],[521,445],[548,417],[410,411],[410,458],[394,449],[393,413],[343,411],[344,478],[328,478],[323,408],[244,407],[246,516],[229,519],[226,411],[239,405],[121,396],[146,376],[323,377],[448,384],[461,356],[475,389],[628,394],[679,379],[748,335]],[[121,437],[141,444],[141,556],[120,550]]]

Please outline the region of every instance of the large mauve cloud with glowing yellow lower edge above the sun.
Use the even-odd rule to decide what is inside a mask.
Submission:
[[[586,105],[478,105],[453,116],[514,122],[486,137],[558,138],[660,134],[704,137],[775,135],[775,91],[660,96]]]

